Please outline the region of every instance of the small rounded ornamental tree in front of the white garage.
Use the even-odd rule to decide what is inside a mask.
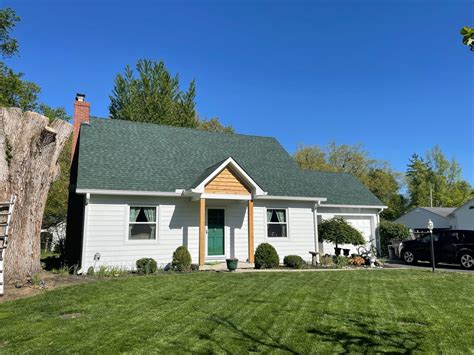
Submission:
[[[336,248],[339,244],[365,244],[362,234],[342,217],[323,221],[318,225],[318,233],[321,240],[334,243]]]

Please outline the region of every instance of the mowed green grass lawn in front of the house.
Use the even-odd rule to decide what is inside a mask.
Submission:
[[[0,304],[0,352],[474,352],[474,273],[126,277]]]

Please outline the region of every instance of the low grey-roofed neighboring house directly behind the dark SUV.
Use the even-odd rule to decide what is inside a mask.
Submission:
[[[451,207],[416,207],[403,216],[395,220],[402,223],[414,232],[422,232],[428,230],[428,221],[434,224],[435,230],[451,228],[449,214],[455,208]]]

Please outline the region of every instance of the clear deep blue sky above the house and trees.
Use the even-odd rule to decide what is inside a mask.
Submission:
[[[237,132],[298,145],[363,143],[404,171],[439,144],[474,184],[468,0],[0,1],[22,21],[9,60],[69,113],[108,115],[114,76],[163,59],[197,108]]]

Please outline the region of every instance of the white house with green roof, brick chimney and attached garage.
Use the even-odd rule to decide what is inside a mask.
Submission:
[[[309,251],[333,253],[317,224],[335,216],[378,243],[385,206],[350,174],[302,171],[270,137],[89,119],[83,98],[74,109],[66,243],[83,270],[134,268],[143,257],[164,265],[180,245],[200,265],[252,263],[264,242],[281,259],[310,260]]]

